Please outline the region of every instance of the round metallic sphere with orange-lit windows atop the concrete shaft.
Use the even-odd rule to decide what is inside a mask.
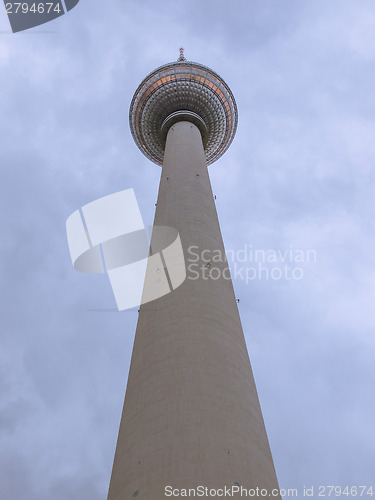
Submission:
[[[230,146],[237,116],[236,101],[224,80],[207,66],[182,57],[146,76],[129,112],[135,143],[158,165],[163,163],[167,132],[177,121],[197,125],[210,164]]]

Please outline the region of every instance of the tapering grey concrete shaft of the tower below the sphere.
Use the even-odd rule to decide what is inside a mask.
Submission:
[[[187,278],[141,306],[108,500],[165,500],[167,485],[271,492],[278,483],[202,138],[187,121],[167,135],[155,226],[178,230]]]

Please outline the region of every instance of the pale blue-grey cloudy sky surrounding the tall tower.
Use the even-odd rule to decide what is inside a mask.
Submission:
[[[152,223],[128,109],[181,44],[239,108],[209,168],[226,248],[316,252],[234,279],[280,485],[375,492],[373,0],[81,0],[19,34],[0,6],[1,499],[106,498],[137,313],[73,270],[65,221],[134,188]]]

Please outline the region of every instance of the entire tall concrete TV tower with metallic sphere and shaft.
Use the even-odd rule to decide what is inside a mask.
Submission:
[[[280,499],[207,171],[235,135],[235,99],[181,49],[142,81],[129,118],[162,165],[154,225],[179,232],[187,277],[140,307],[108,500],[225,487]]]

